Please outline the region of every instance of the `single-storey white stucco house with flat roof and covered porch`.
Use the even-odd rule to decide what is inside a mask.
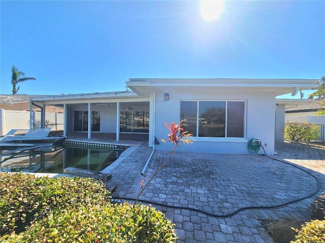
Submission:
[[[318,80],[130,78],[126,85],[131,91],[30,100],[43,108],[62,107],[63,135],[68,139],[69,133],[82,133],[87,139],[109,133],[116,141],[124,134],[146,134],[149,146],[171,150],[172,144],[160,142],[169,133],[164,121],[186,119],[195,142],[184,151],[248,154],[250,139],[259,138],[267,154],[274,154],[275,127],[284,124],[284,109],[276,110],[276,96],[317,88]]]

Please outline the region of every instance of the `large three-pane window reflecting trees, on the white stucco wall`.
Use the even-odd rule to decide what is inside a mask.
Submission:
[[[194,137],[244,138],[245,101],[181,101],[181,119]]]

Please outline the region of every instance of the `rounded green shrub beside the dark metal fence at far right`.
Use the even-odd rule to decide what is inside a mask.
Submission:
[[[319,136],[320,126],[290,121],[284,125],[284,138],[291,141],[310,142]]]

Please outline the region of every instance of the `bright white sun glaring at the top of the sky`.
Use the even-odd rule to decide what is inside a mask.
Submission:
[[[221,0],[201,0],[201,14],[205,21],[217,20],[223,11]]]

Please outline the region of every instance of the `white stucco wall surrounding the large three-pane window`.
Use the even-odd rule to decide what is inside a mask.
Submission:
[[[212,92],[197,90],[195,94],[189,92],[169,92],[169,101],[164,100],[164,93],[156,93],[155,135],[160,145],[157,150],[171,150],[172,144],[164,144],[160,139],[166,139],[169,133],[164,121],[171,124],[180,120],[180,100],[246,100],[246,137],[245,139],[210,139],[196,141],[183,146],[184,151],[249,154],[248,141],[259,138],[268,154],[274,154],[275,137],[275,93],[273,92]],[[186,128],[186,127],[185,127]],[[265,145],[266,144],[266,145]],[[181,150],[182,148],[179,148]],[[263,150],[259,151],[263,153]]]

